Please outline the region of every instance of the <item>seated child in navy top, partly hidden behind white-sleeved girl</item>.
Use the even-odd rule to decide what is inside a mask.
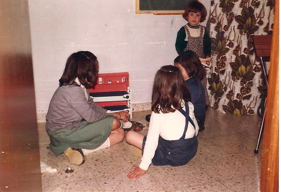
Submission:
[[[206,117],[206,102],[204,87],[200,81],[205,75],[205,69],[198,56],[190,50],[187,50],[177,56],[174,64],[179,68],[182,78],[190,92],[190,102],[194,106],[194,115],[199,126],[199,132],[204,130]]]

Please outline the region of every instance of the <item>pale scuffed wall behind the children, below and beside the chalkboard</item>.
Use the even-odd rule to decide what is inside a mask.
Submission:
[[[98,57],[99,73],[129,72],[133,104],[151,102],[154,74],[173,64],[186,24],[182,15],[136,14],[135,0],[29,0],[29,15],[37,114],[47,113],[68,56],[79,50]]]

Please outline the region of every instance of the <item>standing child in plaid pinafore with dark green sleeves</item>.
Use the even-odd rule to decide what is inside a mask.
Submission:
[[[176,51],[178,54],[186,50],[194,51],[199,58],[210,58],[211,41],[206,28],[200,25],[206,19],[207,10],[204,5],[198,1],[190,2],[184,10],[182,17],[188,23],[180,28],[176,37]],[[207,92],[206,72],[201,80],[205,91],[206,105],[209,105]]]

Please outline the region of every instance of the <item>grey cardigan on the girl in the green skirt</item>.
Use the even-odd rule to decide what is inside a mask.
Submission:
[[[58,87],[50,101],[46,115],[46,128],[51,131],[73,127],[77,129],[83,119],[91,123],[110,115],[106,109],[91,99],[88,89],[86,92],[88,100],[80,86],[73,84]]]

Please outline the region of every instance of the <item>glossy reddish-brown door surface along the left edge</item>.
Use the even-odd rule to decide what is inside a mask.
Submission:
[[[28,0],[0,7],[0,191],[42,191]]]

